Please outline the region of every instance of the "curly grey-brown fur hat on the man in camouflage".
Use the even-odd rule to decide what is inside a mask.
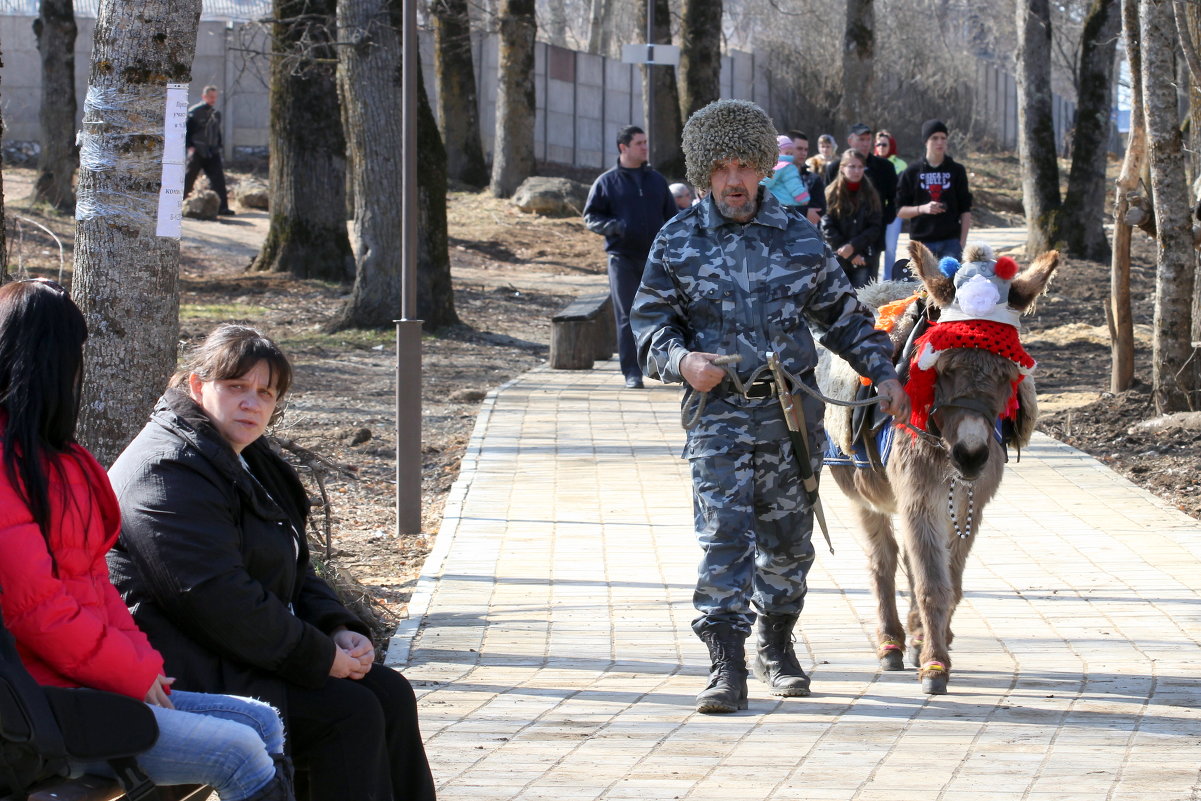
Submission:
[[[688,183],[709,190],[713,166],[739,159],[763,175],[771,175],[779,156],[776,126],[766,112],[746,100],[717,100],[688,118],[683,126]]]

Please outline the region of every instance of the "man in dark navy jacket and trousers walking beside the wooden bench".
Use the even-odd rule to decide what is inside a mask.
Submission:
[[[616,166],[592,184],[584,204],[584,222],[588,231],[604,237],[621,372],[626,376],[626,387],[641,389],[643,370],[629,330],[629,307],[643,281],[651,243],[677,209],[667,179],[646,163],[643,128],[635,125],[622,128],[617,133],[617,154]]]

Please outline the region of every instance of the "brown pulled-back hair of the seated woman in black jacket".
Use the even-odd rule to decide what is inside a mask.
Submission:
[[[249,325],[222,323],[204,337],[204,342],[184,360],[184,366],[171,377],[171,385],[187,390],[187,379],[195,372],[202,381],[226,381],[245,376],[259,361],[267,363],[269,381],[275,389],[275,411],[271,423],[283,416],[283,395],[292,385],[292,363],[275,342]]]

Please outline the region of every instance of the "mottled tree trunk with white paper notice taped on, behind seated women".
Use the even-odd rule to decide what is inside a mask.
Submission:
[[[101,0],[96,13],[72,297],[89,330],[79,440],[104,465],[175,369],[179,240],[156,235],[162,131],[166,84],[191,80],[199,19],[201,0]]]

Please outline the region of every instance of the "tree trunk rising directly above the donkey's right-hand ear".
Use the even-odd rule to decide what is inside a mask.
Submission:
[[[1026,207],[1026,258],[1059,240],[1059,166],[1051,116],[1051,8],[1017,2],[1017,154]]]

